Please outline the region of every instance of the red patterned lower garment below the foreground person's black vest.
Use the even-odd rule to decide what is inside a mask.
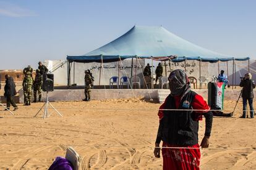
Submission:
[[[163,142],[163,147],[181,147],[169,145]],[[195,149],[189,149],[195,148]],[[198,148],[198,149],[197,149]],[[198,170],[200,164],[199,145],[188,146],[186,148],[163,148],[163,169],[164,170]]]

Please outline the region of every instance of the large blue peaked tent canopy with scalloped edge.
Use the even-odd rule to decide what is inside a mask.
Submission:
[[[172,62],[198,60],[211,63],[227,62],[229,60],[249,60],[249,57],[235,58],[204,49],[170,33],[162,26],[135,25],[119,38],[85,55],[67,55],[68,73],[70,73],[70,63],[72,62],[103,63],[129,58],[171,60]]]

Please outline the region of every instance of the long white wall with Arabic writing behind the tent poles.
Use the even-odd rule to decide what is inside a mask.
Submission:
[[[64,62],[64,60],[46,60],[44,63],[48,66],[49,70],[56,68],[60,63]],[[155,69],[160,61],[153,61],[153,74],[155,75]],[[141,83],[143,83],[143,76],[142,72],[145,68],[145,65],[150,63],[151,60],[148,59],[137,59],[137,66],[136,66],[136,59],[134,59],[134,67],[133,67],[133,75],[137,74],[140,77]],[[199,64],[200,62],[195,60],[187,60],[185,62],[161,62],[163,64],[163,76],[169,76],[169,73],[175,69],[185,69],[187,70],[188,76],[194,76],[198,81],[198,88],[199,88]],[[234,84],[239,85],[240,83],[240,76],[244,76],[245,73],[248,72],[248,61],[235,61],[236,67],[234,69]],[[118,66],[119,70],[119,78],[121,76],[128,76],[130,77],[131,73],[131,65],[132,60],[126,59],[122,60],[121,62],[111,62],[111,63],[103,63],[102,65],[102,72],[101,72],[101,85],[109,85],[109,78],[111,76],[118,76]],[[165,66],[166,65],[166,71]],[[77,84],[78,86],[84,85],[84,71],[91,70],[93,76],[95,77],[95,85],[99,84],[100,78],[100,66],[101,63],[72,63],[72,69],[70,72],[70,83]],[[75,67],[75,69],[74,69]],[[75,74],[74,74],[75,70]],[[227,62],[219,62],[219,63],[208,63],[208,62],[201,62],[201,76],[205,78],[212,78],[213,76],[218,76],[220,70],[224,70],[224,74],[228,75],[229,84],[232,85],[233,83],[233,61],[228,62],[228,69],[227,69]],[[62,67],[58,68],[54,72],[54,84],[55,85],[67,85],[67,63],[64,63]],[[252,73],[252,78],[256,79],[256,62],[255,60],[250,60],[250,73]]]

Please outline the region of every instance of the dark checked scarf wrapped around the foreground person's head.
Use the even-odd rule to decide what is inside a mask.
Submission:
[[[174,70],[169,75],[169,89],[171,95],[179,96],[184,94],[190,89],[189,81],[187,79],[186,72],[181,69]]]

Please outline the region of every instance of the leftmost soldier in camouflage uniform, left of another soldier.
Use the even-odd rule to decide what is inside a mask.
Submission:
[[[30,71],[27,71],[22,83],[25,102],[24,105],[30,105],[30,100],[32,96],[33,78],[30,75],[32,75],[32,73],[30,73]]]

